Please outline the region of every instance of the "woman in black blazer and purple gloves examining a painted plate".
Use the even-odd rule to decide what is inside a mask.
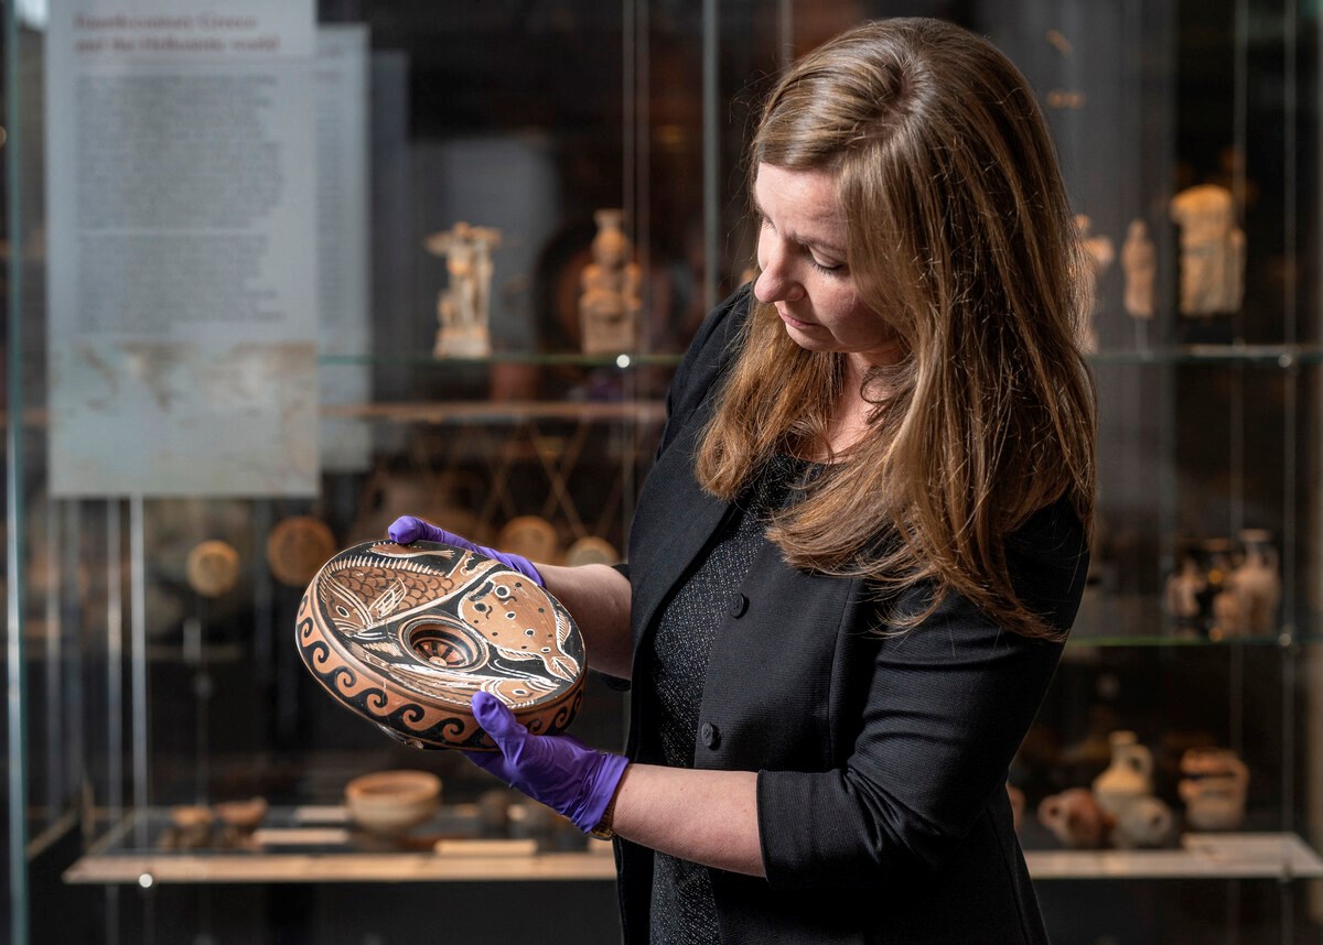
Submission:
[[[631,942],[1045,941],[1004,784],[1094,406],[1043,116],[963,29],[867,24],[781,81],[750,172],[761,272],[676,374],[627,572],[515,560],[632,679],[626,757],[475,699],[476,760],[614,830]]]

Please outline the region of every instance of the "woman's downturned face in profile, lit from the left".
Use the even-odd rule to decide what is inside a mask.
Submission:
[[[831,173],[759,164],[754,198],[762,215],[762,274],[753,292],[777,307],[795,344],[856,356],[861,366],[900,361],[896,333],[855,292],[845,266],[845,214]]]

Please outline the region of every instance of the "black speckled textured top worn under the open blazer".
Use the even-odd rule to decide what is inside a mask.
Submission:
[[[810,469],[808,463],[789,456],[767,464],[658,623],[648,653],[652,671],[644,678],[656,704],[656,744],[672,768],[693,767],[699,706],[720,615],[767,541],[769,513],[800,494],[795,486]],[[708,867],[658,852],[652,870],[651,945],[716,945],[720,937]]]

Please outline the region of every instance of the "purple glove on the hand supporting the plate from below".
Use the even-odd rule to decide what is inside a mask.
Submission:
[[[583,833],[602,821],[628,759],[589,748],[569,735],[533,735],[490,693],[474,695],[472,706],[474,718],[500,752],[464,752],[470,761],[569,817]]]

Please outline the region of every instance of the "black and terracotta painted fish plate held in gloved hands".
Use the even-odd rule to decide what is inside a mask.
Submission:
[[[448,545],[341,551],[308,584],[295,634],[332,697],[418,748],[496,751],[472,716],[478,691],[536,734],[564,731],[583,695],[583,640],[561,603]]]

